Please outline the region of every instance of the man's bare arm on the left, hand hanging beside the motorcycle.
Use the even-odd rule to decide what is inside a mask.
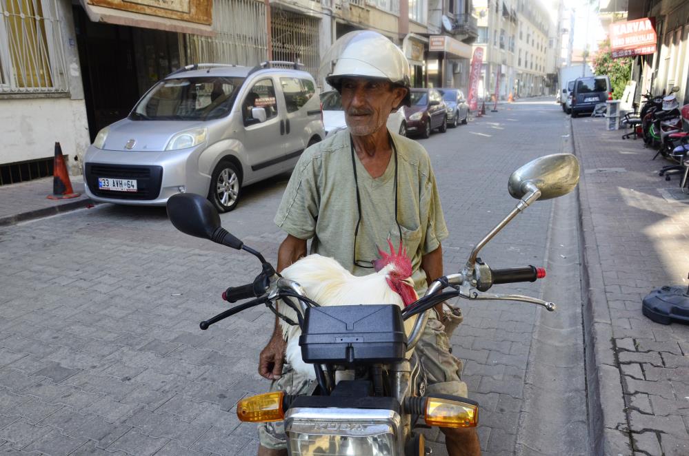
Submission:
[[[277,251],[277,271],[306,256],[306,240],[288,234]],[[282,337],[279,318],[275,317],[275,327],[266,348],[259,355],[259,374],[268,380],[277,380],[282,374],[282,363],[286,342]]]

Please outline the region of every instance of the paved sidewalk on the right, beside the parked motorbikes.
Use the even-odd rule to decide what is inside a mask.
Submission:
[[[689,199],[677,200],[643,141],[621,140],[604,119],[572,119],[597,369],[592,404],[601,454],[689,454],[689,328],[648,320],[641,300],[663,285],[686,287]],[[595,391],[595,389],[593,390]]]

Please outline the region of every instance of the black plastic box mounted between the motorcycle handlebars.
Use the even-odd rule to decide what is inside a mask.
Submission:
[[[407,336],[393,304],[310,307],[299,346],[310,363],[396,362],[404,359]]]

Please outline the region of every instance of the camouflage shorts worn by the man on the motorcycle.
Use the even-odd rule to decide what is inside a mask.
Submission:
[[[435,312],[429,312],[428,324],[416,346],[416,353],[426,373],[428,386],[426,394],[441,393],[467,397],[466,383],[461,381],[462,363],[450,353],[450,342],[445,327]],[[286,394],[308,395],[314,391],[314,380],[296,373],[285,364],[282,375],[270,384],[270,391],[285,391]],[[284,423],[259,423],[261,446],[271,450],[287,448]]]

